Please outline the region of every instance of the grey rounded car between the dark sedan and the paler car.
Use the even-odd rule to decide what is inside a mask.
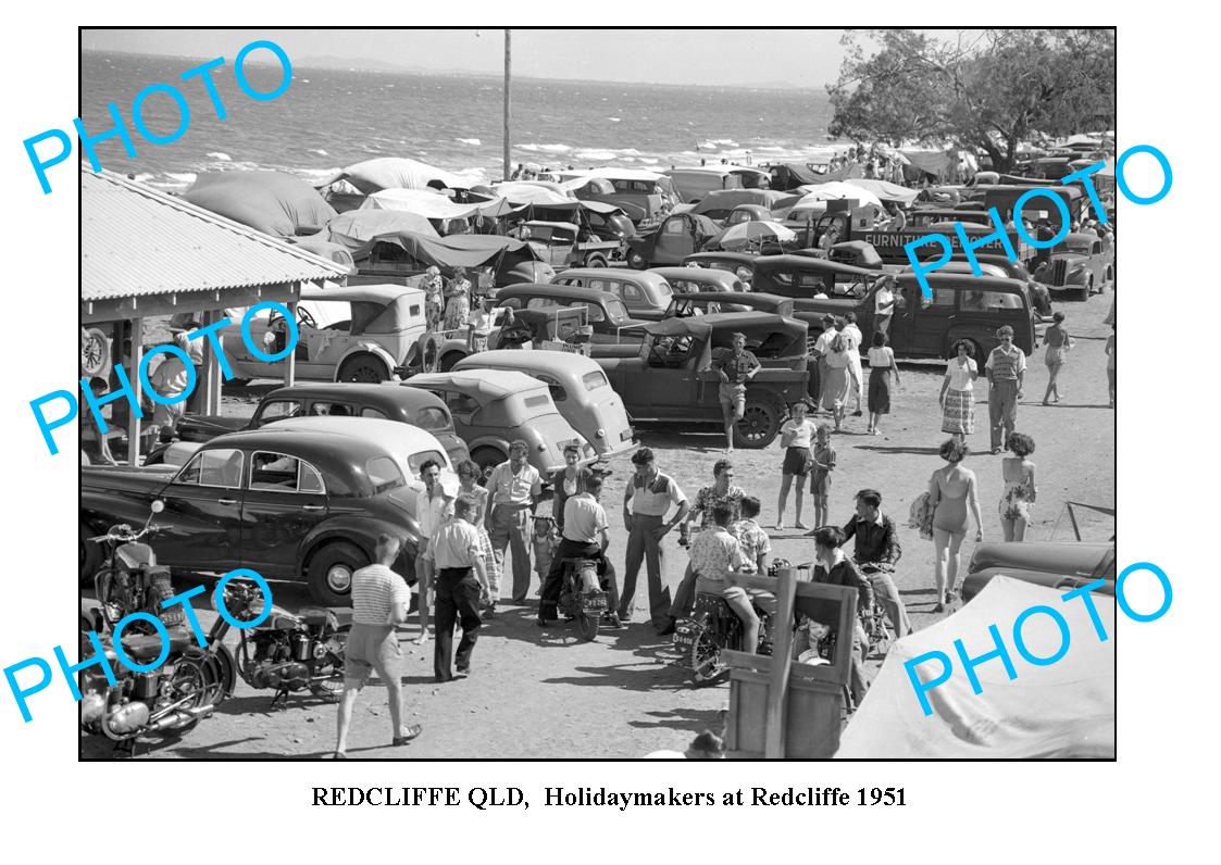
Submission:
[[[449,409],[470,458],[485,471],[509,459],[515,439],[530,447],[530,465],[549,473],[564,467],[564,445],[575,443],[582,462],[597,451],[564,420],[547,384],[524,372],[464,370],[413,376],[402,387],[435,393]]]

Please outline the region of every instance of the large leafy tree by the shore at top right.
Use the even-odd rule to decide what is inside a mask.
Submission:
[[[877,49],[866,56],[866,43]],[[833,135],[983,150],[1009,171],[1021,142],[1115,124],[1115,31],[849,31],[828,85]]]

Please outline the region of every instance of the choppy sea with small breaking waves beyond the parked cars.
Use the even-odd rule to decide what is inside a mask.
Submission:
[[[232,67],[214,73],[227,112],[221,121],[199,81],[179,82],[199,61],[183,57],[85,52],[81,59],[81,118],[90,133],[112,126],[115,104],[131,126],[132,101],[153,83],[177,83],[187,96],[187,132],[154,145],[133,134],[96,145],[104,168],[181,190],[200,172],[289,171],[316,181],[376,156],[407,156],[481,181],[499,179],[502,82],[294,68],[288,90],[254,101]],[[278,67],[247,68],[252,85],[272,90]],[[589,168],[619,165],[664,170],[722,159],[746,163],[805,161],[829,153],[830,105],[821,90],[759,90],[515,79],[512,92],[513,163]],[[156,134],[179,123],[171,98],[159,94],[142,117]]]

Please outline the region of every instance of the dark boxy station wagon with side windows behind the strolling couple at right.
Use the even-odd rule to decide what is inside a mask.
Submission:
[[[930,273],[926,279],[933,296],[926,299],[915,275],[900,273],[896,279],[889,344],[897,356],[949,359],[954,344],[966,339],[979,362],[999,344],[996,329],[1002,325],[1013,328],[1013,344],[1022,351],[1034,350],[1034,321],[1026,283],[969,273]],[[811,340],[823,331],[816,316],[841,316],[849,310],[856,312],[861,332],[872,334],[875,292],[877,287],[871,285],[861,300],[799,300],[797,317],[811,316]],[[862,351],[866,348],[861,345]]]

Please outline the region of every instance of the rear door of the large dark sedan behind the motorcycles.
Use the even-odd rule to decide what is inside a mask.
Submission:
[[[242,503],[242,561],[265,577],[294,577],[298,549],[328,512],[322,475],[305,460],[255,450]]]

